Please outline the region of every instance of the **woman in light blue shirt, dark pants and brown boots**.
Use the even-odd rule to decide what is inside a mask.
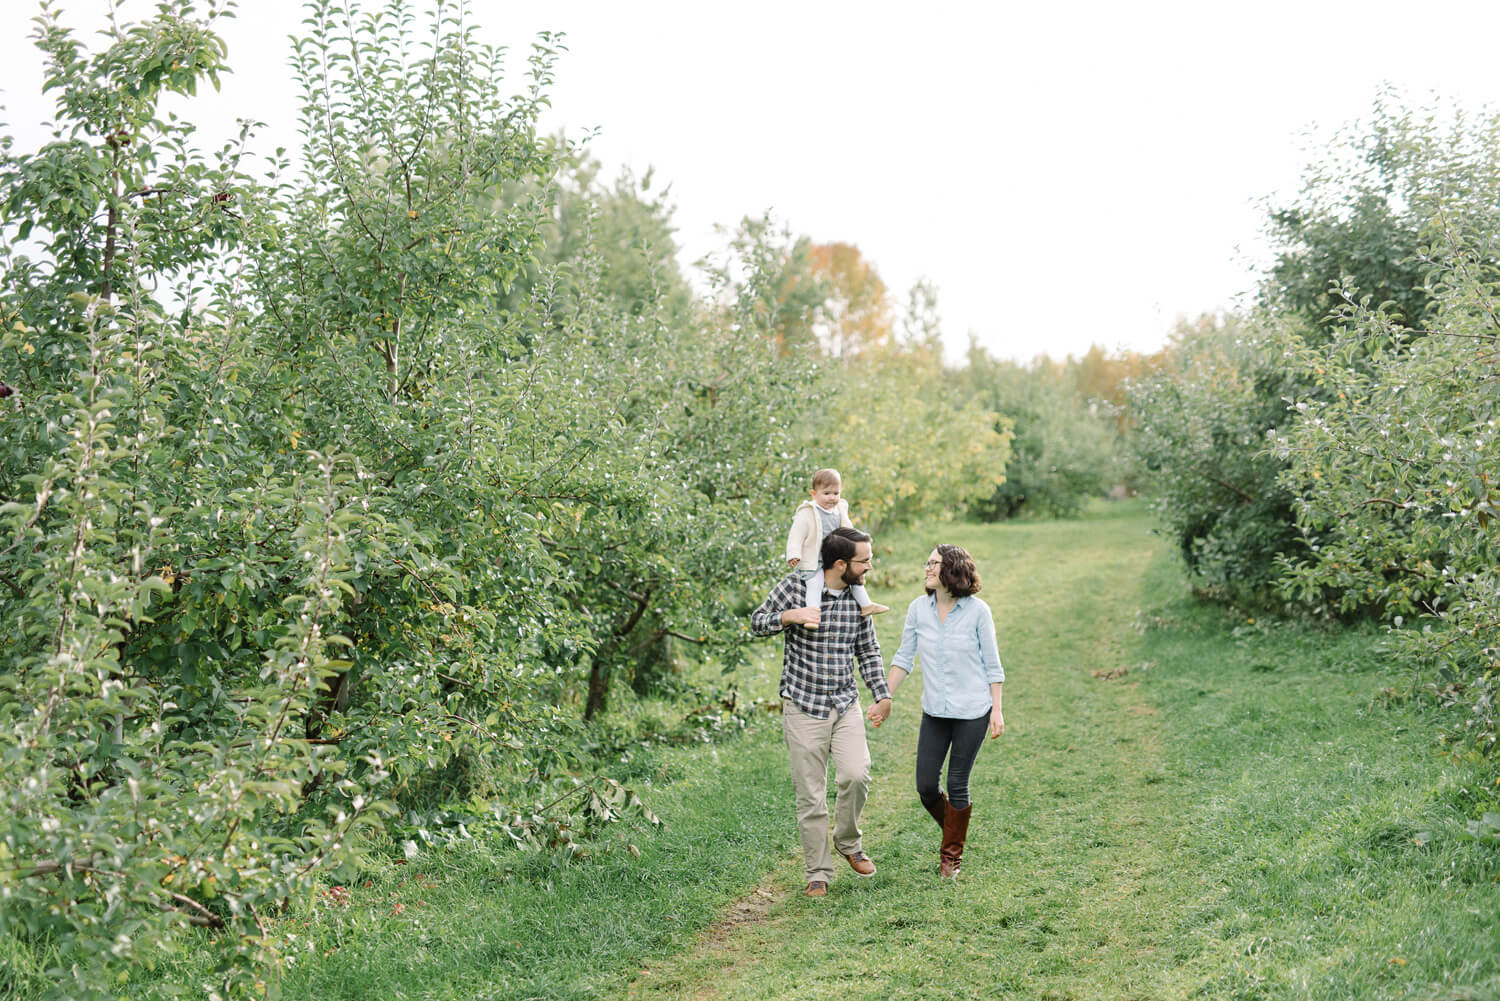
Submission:
[[[942,827],[938,872],[958,873],[963,843],[969,834],[969,773],[990,738],[1005,732],[1000,689],[1005,671],[994,645],[990,606],[975,594],[980,572],[958,546],[940,545],[927,557],[927,596],[906,609],[902,647],[891,662],[891,693],[922,662],[922,725],[916,735],[916,795]],[[879,726],[890,714],[870,708]],[[948,794],[939,786],[944,758],[948,759]]]

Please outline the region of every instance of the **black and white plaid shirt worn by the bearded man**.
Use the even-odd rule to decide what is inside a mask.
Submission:
[[[750,632],[771,636],[786,632],[782,656],[782,698],[814,719],[843,714],[860,701],[854,683],[854,663],[874,701],[891,698],[880,663],[880,642],[874,638],[874,623],[860,614],[860,603],[849,588],[824,590],[822,620],[818,629],[783,626],[782,612],[802,608],[806,582],[792,573],[783,578],[760,608],[750,612]]]

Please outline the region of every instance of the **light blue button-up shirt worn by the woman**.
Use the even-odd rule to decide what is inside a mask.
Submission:
[[[938,599],[922,594],[906,608],[902,645],[891,660],[908,674],[922,662],[922,711],[945,719],[987,716],[990,686],[1005,681],[994,644],[990,606],[972,594],[960,597],[938,621]]]

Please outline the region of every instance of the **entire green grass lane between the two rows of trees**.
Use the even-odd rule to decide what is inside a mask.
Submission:
[[[1437,758],[1432,710],[1378,695],[1378,635],[1196,606],[1149,528],[1126,504],[876,540],[886,659],[934,542],[975,554],[996,612],[1008,729],[980,755],[957,881],[912,789],[918,674],[870,735],[873,879],[800,894],[765,714],[654,755],[632,782],[664,824],[618,825],[592,861],[372,866],[284,920],[312,945],[284,995],[1500,996],[1500,860],[1461,839],[1497,791]],[[759,653],[747,698],[774,696],[780,644]]]

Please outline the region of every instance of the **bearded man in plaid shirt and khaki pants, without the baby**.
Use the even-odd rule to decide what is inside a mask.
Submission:
[[[874,863],[860,842],[860,813],[870,792],[870,747],[864,740],[854,663],[858,662],[876,707],[886,714],[891,690],[885,684],[874,624],[860,614],[860,603],[850,593],[870,572],[872,552],[870,536],[856,528],[836,528],[822,545],[820,605],[806,606],[806,584],[792,573],[750,614],[750,630],[758,636],[786,633],[782,734],[796,792],[796,828],[802,836],[810,897],[828,893],[834,875],[828,851],[830,755],[837,789],[834,848],[856,875],[874,875]]]

